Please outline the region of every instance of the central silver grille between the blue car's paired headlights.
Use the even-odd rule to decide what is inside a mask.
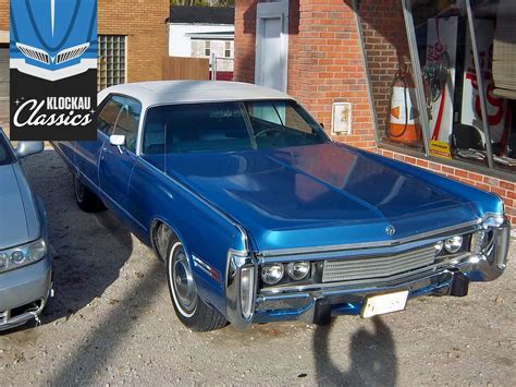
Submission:
[[[322,281],[334,282],[390,277],[432,265],[434,259],[435,249],[429,246],[390,256],[325,261]]]

